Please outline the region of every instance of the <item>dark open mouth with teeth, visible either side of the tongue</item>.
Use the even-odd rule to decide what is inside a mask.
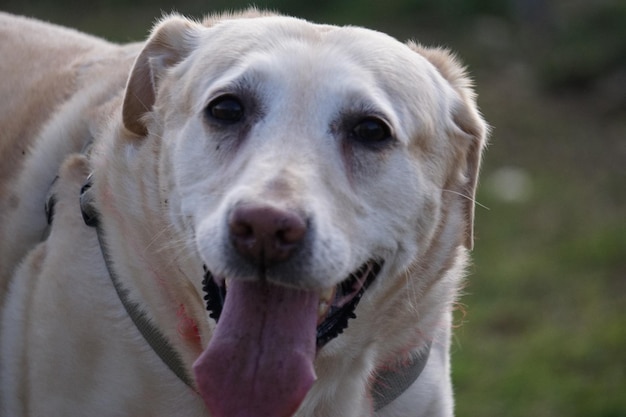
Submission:
[[[339,284],[319,292],[317,348],[320,349],[343,333],[365,291],[376,280],[384,261],[370,259]],[[228,277],[215,276],[206,266],[203,289],[209,316],[217,322],[228,299]],[[276,284],[279,285],[279,284]]]

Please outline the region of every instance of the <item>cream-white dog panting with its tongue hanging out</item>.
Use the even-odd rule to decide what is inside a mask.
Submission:
[[[0,14],[3,416],[453,415],[487,125],[447,50]]]

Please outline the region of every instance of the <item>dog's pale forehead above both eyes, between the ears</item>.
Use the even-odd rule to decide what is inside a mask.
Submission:
[[[318,25],[289,17],[235,19],[207,28],[189,64],[192,101],[204,106],[216,86],[241,80],[271,94],[291,91],[299,103],[346,103],[357,98],[390,110],[399,129],[423,130],[446,106],[448,87],[422,55],[370,29]],[[245,83],[244,83],[245,84]],[[305,100],[322,98],[322,100]],[[364,100],[359,100],[364,99]],[[330,110],[330,108],[329,108]],[[393,122],[393,120],[392,120]]]

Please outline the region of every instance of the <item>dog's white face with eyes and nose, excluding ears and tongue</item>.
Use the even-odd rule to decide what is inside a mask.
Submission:
[[[241,51],[223,44],[207,51],[202,68],[217,76],[192,84],[196,114],[166,132],[179,141],[173,166],[198,251],[215,276],[261,274],[312,290],[334,287],[368,262],[406,260],[423,217],[415,213],[431,215],[437,202],[435,184],[419,172],[425,161],[409,150],[425,126],[401,122],[411,113],[397,98],[403,86],[367,69],[381,57],[371,56],[367,39],[355,45],[357,34],[343,42],[333,33],[309,42],[272,34]],[[220,62],[229,50],[234,59]],[[433,123],[441,121],[426,121]],[[276,234],[274,241],[255,242],[261,237],[246,228],[257,222],[278,223],[259,231]]]

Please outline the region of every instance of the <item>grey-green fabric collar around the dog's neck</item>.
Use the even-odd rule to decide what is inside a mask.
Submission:
[[[113,260],[111,259],[106,243],[105,233],[102,230],[98,212],[93,205],[93,196],[89,192],[90,188],[91,175],[87,178],[87,182],[83,185],[80,191],[81,213],[85,224],[96,229],[100,251],[102,252],[102,257],[104,258],[104,263],[106,264],[107,271],[111,277],[113,287],[115,287],[115,292],[117,293],[129,317],[139,330],[139,333],[141,333],[152,350],[181,381],[195,391],[195,384],[192,378],[189,377],[186,367],[184,366],[178,352],[176,352],[165,335],[159,331],[152,321],[150,321],[139,304],[130,299],[128,289],[123,287],[120,279],[115,273]],[[403,363],[402,366],[395,369],[377,372],[371,387],[371,395],[375,411],[379,411],[386,405],[393,402],[411,385],[413,385],[426,366],[426,362],[428,361],[428,356],[430,354],[430,348],[431,344],[428,343],[424,350],[412,354],[409,360],[406,363]]]

